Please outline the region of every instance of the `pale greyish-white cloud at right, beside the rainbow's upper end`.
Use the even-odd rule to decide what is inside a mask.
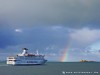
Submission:
[[[100,30],[83,28],[83,29],[73,30],[73,32],[71,32],[69,36],[72,40],[71,43],[74,47],[84,48],[95,42],[98,42],[100,40],[99,34]]]

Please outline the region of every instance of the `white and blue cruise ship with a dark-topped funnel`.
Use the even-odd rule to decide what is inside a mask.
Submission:
[[[27,48],[22,49],[23,52],[21,54],[17,54],[16,56],[7,57],[8,65],[42,65],[47,62],[44,58],[45,55],[41,55],[38,53],[32,54],[28,53]]]

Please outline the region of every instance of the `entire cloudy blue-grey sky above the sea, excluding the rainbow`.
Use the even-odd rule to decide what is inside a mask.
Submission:
[[[0,0],[0,59],[27,47],[50,61],[100,61],[100,0]]]

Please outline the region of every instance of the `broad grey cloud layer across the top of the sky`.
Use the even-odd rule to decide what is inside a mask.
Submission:
[[[99,0],[0,0],[0,15],[13,24],[98,28],[99,3]]]

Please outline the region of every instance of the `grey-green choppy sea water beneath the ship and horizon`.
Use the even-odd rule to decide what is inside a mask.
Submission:
[[[8,66],[2,62],[0,75],[100,75],[100,63],[48,62],[45,65]]]

